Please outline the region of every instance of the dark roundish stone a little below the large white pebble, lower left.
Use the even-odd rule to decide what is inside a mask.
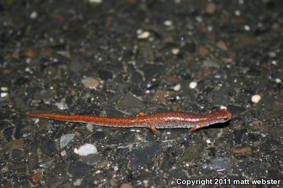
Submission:
[[[81,162],[72,162],[68,168],[68,172],[76,179],[81,178],[84,174],[87,174],[90,170],[90,166]]]

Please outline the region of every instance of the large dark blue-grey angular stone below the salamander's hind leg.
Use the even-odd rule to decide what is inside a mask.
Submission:
[[[130,152],[130,161],[133,169],[139,169],[145,164],[152,161],[161,152],[161,145],[157,143],[150,143],[142,146],[141,148],[133,149]]]

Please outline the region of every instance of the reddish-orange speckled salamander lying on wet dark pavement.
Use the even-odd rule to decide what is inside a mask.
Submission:
[[[215,123],[223,123],[231,119],[231,113],[226,109],[206,114],[185,112],[157,112],[138,117],[100,117],[90,115],[61,115],[50,113],[27,113],[29,116],[57,119],[61,121],[91,123],[107,127],[145,127],[157,134],[156,129],[188,128],[196,131]]]

